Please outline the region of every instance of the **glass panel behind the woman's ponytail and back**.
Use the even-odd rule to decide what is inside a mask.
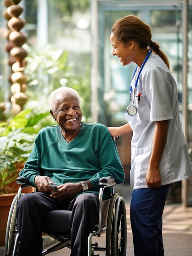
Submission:
[[[182,34],[181,10],[151,11],[150,22],[152,40],[160,44],[160,48],[169,58],[170,70],[178,86],[179,102],[182,102]]]

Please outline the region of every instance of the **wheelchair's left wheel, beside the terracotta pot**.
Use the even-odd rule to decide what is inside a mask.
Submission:
[[[24,195],[24,194],[22,194]],[[22,196],[21,195],[21,196]],[[4,245],[4,255],[13,255],[13,246],[15,242],[15,236],[17,234],[16,225],[16,214],[17,214],[17,196],[15,195],[11,208],[9,210],[9,216],[7,220],[7,229],[5,234],[5,245]]]

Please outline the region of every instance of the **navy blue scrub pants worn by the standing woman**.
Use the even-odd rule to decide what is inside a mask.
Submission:
[[[170,186],[133,191],[130,221],[135,256],[164,256],[162,216]]]

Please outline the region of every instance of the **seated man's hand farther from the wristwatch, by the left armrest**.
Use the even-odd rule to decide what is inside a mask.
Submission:
[[[39,192],[42,193],[53,193],[53,189],[49,186],[48,182],[53,182],[47,176],[36,176],[35,177],[35,185]]]

